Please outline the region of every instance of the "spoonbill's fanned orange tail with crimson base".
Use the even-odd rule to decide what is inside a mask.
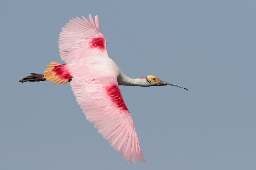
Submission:
[[[51,61],[51,63],[47,65],[44,70],[44,77],[52,83],[60,83],[63,85],[72,79],[68,71],[68,66],[55,61]]]

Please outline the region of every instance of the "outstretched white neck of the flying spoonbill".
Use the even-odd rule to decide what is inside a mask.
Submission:
[[[142,87],[150,86],[145,77],[129,78],[125,76],[122,71],[120,71],[120,74],[117,77],[117,82],[118,82],[118,85],[131,85],[131,86],[142,86]]]

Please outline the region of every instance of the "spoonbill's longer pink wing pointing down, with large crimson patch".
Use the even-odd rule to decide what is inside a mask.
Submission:
[[[144,158],[131,114],[126,107],[115,77],[83,80],[72,78],[71,88],[86,119],[108,139],[129,163]]]

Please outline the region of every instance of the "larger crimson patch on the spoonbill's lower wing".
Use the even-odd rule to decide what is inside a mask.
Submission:
[[[123,96],[118,85],[109,85],[106,87],[106,91],[111,100],[122,110],[127,110],[128,108],[124,103]]]

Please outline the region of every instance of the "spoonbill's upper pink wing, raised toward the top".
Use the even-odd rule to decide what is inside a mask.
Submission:
[[[62,28],[59,38],[61,60],[76,63],[92,57],[108,57],[106,39],[100,31],[99,18],[89,15],[85,18],[73,18]]]

